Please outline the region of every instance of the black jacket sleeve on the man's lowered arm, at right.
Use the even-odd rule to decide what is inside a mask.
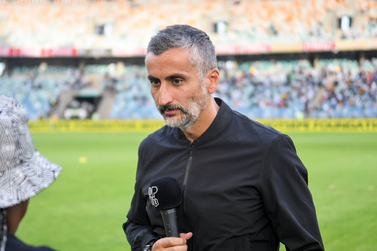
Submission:
[[[288,251],[324,250],[308,172],[287,135],[278,136],[267,150],[261,192],[273,231]]]

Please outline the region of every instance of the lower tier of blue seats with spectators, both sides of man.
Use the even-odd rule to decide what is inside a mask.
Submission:
[[[41,69],[43,68],[43,69]],[[29,110],[31,119],[47,118],[59,94],[75,88],[93,88],[116,94],[109,118],[161,118],[150,95],[142,65],[114,64],[70,67],[15,67],[0,77],[0,92],[14,96]],[[328,118],[377,116],[377,58],[359,64],[349,59],[219,61],[220,84],[214,96],[252,118]],[[47,73],[46,73],[47,72]],[[92,112],[92,111],[91,111]]]

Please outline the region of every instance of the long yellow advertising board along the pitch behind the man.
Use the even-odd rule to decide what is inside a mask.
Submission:
[[[377,118],[258,119],[280,132],[377,132]],[[154,132],[163,120],[31,120],[38,132]]]

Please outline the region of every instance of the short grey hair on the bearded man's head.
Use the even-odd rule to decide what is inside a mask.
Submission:
[[[204,31],[190,25],[167,26],[151,38],[147,54],[159,55],[172,48],[190,50],[189,60],[203,81],[209,70],[217,68],[215,46]]]

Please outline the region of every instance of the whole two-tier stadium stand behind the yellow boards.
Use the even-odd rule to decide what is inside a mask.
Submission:
[[[152,35],[180,23],[208,32],[221,71],[215,94],[250,117],[377,116],[377,1],[0,0],[0,6],[0,92],[24,103],[31,119],[160,118],[142,58]]]

